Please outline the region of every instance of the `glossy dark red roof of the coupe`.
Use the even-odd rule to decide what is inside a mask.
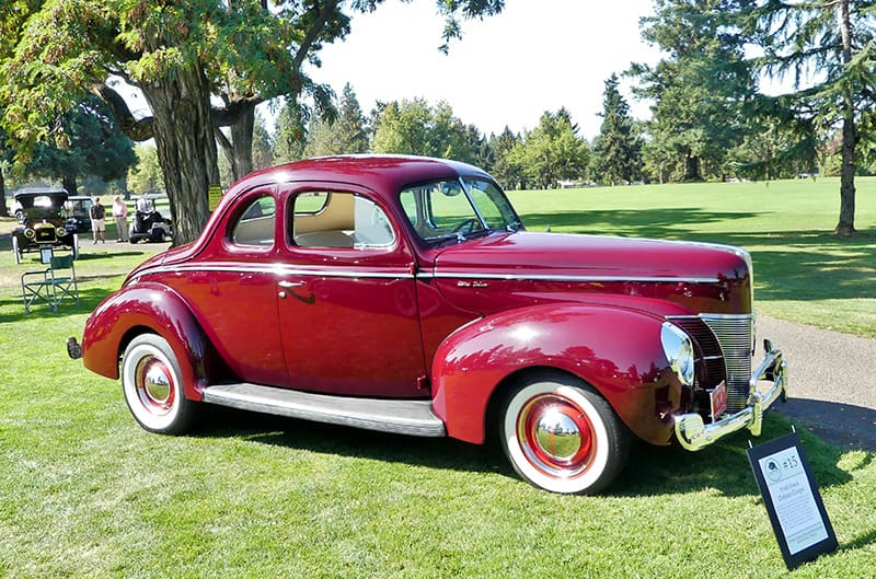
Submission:
[[[355,183],[387,194],[415,183],[462,175],[489,178],[486,172],[476,166],[447,159],[395,154],[321,157],[252,173],[235,183],[226,196],[235,197],[260,185],[313,181]]]

